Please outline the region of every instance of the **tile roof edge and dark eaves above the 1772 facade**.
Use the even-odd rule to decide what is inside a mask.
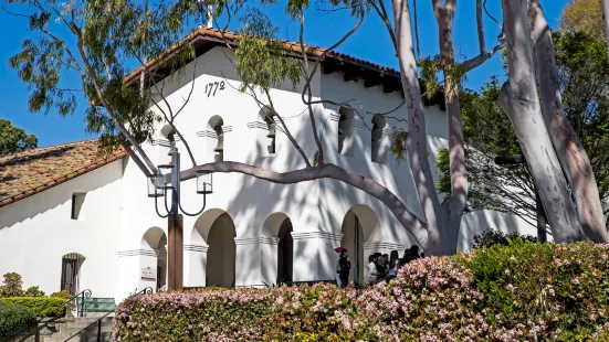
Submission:
[[[221,31],[217,29],[199,28],[183,38],[180,42],[166,50],[162,54],[153,58],[146,63],[146,68],[155,68],[155,65],[159,61],[171,58],[172,53],[183,44],[190,42],[195,47],[195,55],[200,56],[208,52],[213,46],[237,46],[237,39],[240,35],[234,32]],[[311,58],[322,58],[322,72],[324,74],[332,74],[336,71],[344,73],[345,81],[364,79],[365,87],[371,87],[381,85],[385,93],[402,92],[400,72],[390,67],[381,66],[368,61],[356,58],[350,55],[342,54],[336,51],[329,51],[324,56],[325,49],[304,44],[301,46],[296,42],[282,41],[288,55],[294,57],[301,57],[303,49],[307,56]],[[134,81],[139,79],[140,73],[145,68],[143,66],[136,68],[128,74],[124,82],[130,84]],[[155,70],[156,81],[160,81],[169,75],[169,70],[161,70],[160,67]],[[421,94],[426,93],[424,84],[420,81]],[[440,109],[445,109],[444,94],[442,90],[438,90],[431,98],[423,96],[426,106],[439,105]]]

